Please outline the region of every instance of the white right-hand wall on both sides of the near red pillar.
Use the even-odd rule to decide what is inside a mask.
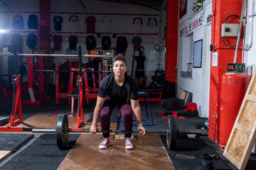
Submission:
[[[198,111],[202,117],[208,117],[208,102],[209,102],[209,79],[210,79],[210,23],[206,23],[208,15],[212,14],[211,0],[204,1],[203,11],[193,14],[191,10],[193,6],[193,0],[188,0],[187,13],[183,18],[179,20],[178,29],[181,31],[196,17],[203,16],[203,25],[196,30],[191,31],[193,36],[193,42],[196,40],[203,39],[203,55],[202,55],[202,68],[193,68],[192,79],[182,78],[181,71],[187,71],[186,60],[188,58],[188,38],[179,36],[178,38],[178,75],[177,84],[178,92],[177,95],[181,95],[181,91],[187,90],[193,93],[193,102],[198,104]],[[255,47],[255,28],[256,28],[256,6],[255,0],[247,1],[247,13],[245,16],[245,29],[244,29],[244,50],[242,56],[242,62],[245,62],[246,72],[249,75],[255,71],[256,68],[256,47]],[[189,36],[189,35],[188,35]]]

